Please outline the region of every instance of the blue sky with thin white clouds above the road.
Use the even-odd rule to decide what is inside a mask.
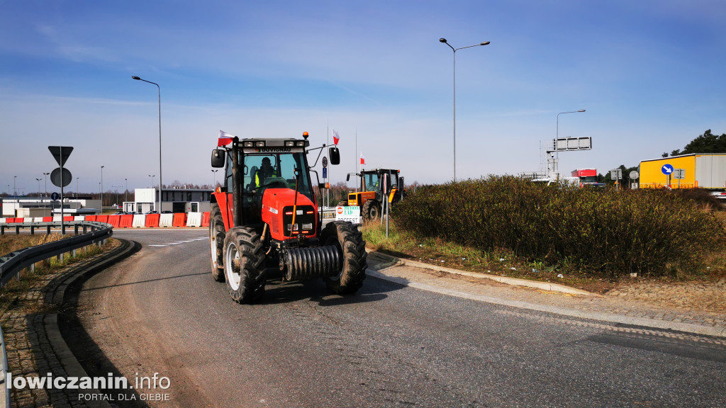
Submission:
[[[560,172],[726,133],[726,4],[691,1],[0,0],[0,187],[23,192],[73,146],[76,189],[211,184],[219,130],[340,134],[331,181],[370,167],[407,181],[540,168],[540,141],[592,136]],[[585,113],[558,113],[585,109]],[[357,138],[356,138],[357,136]],[[332,136],[330,137],[332,139]],[[357,139],[357,151],[356,151]],[[351,183],[352,185],[352,183]],[[41,189],[44,189],[41,182]],[[49,190],[50,183],[49,183]]]

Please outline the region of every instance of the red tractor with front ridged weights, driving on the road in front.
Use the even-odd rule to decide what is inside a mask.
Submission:
[[[319,158],[325,144],[309,149],[307,132],[303,139],[234,137],[227,143],[211,160],[213,168],[226,167],[224,187],[211,197],[214,280],[227,282],[238,303],[260,298],[274,275],[284,281],[319,277],[334,293],[356,292],[366,276],[365,241],[349,222],[323,227],[313,191],[307,153],[320,150]],[[340,163],[337,147],[329,155],[331,164]]]

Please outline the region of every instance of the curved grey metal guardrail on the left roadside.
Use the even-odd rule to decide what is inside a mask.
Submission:
[[[63,253],[83,248],[100,241],[105,241],[113,235],[113,227],[110,226],[110,224],[103,222],[66,221],[64,224],[66,227],[73,227],[73,229],[76,230],[76,237],[65,238],[54,242],[48,242],[47,244],[17,250],[7,254],[7,256],[0,257],[0,287],[6,285],[13,277],[16,277],[21,270],[30,265],[36,264],[36,262],[44,261],[48,258],[53,258],[54,256],[61,256]],[[20,228],[30,228],[30,231],[34,232],[34,229],[36,228],[46,228],[50,231],[52,227],[60,226],[60,221],[28,222],[22,224],[3,224],[0,226],[0,229],[11,227],[16,229],[16,233],[19,233]],[[81,227],[83,228],[84,233],[78,235],[78,229]],[[86,233],[89,228],[91,228],[91,232]]]

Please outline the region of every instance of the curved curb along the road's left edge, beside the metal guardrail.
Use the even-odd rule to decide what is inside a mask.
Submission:
[[[113,250],[108,256],[102,258],[100,261],[94,263],[90,267],[81,267],[80,269],[65,275],[60,278],[60,282],[46,293],[46,301],[50,304],[62,303],[65,298],[65,290],[68,286],[72,285],[78,280],[83,280],[89,277],[91,274],[102,271],[102,269],[111,266],[118,261],[121,261],[132,254],[136,253],[141,248],[138,242],[121,240],[115,238],[121,242],[121,247]],[[68,344],[63,339],[60,327],[58,326],[58,314],[46,314],[43,319],[43,325],[48,336],[49,343],[53,348],[54,354],[57,356],[63,369],[69,377],[88,377],[86,370],[83,370],[81,363],[78,362],[76,356],[70,351]],[[100,393],[98,390],[86,390],[89,393]],[[107,401],[84,401],[87,407],[98,407],[98,408],[110,408],[111,405]]]

